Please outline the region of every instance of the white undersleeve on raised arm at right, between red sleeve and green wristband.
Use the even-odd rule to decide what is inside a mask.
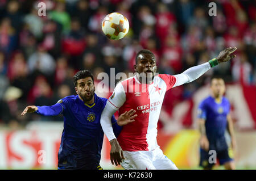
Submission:
[[[205,72],[210,69],[209,62],[201,65],[192,66],[191,68],[185,70],[181,74],[174,75],[177,78],[177,82],[174,87],[183,85],[184,83],[189,83],[195,81],[197,78],[201,77]]]

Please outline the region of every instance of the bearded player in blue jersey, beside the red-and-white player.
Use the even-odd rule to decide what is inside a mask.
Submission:
[[[82,70],[73,77],[77,95],[66,96],[53,106],[27,106],[22,115],[31,112],[44,116],[63,114],[64,129],[58,153],[58,169],[101,170],[101,148],[104,138],[100,124],[101,112],[108,99],[98,97],[94,91],[93,75]],[[130,110],[112,124],[118,136],[122,125],[131,123],[137,115]]]

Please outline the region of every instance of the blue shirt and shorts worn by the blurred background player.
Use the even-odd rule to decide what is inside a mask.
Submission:
[[[215,150],[220,165],[233,160],[233,151],[230,148],[230,135],[227,131],[226,119],[230,111],[228,99],[222,97],[217,102],[212,96],[204,99],[198,108],[198,118],[205,120],[205,132],[209,140],[209,150]],[[211,154],[200,148],[200,166],[211,169],[214,163],[209,163]]]

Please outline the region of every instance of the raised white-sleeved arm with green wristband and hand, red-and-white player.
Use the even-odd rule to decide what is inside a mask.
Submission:
[[[176,77],[177,80],[174,87],[183,85],[184,83],[195,81],[210,68],[213,68],[214,66],[217,66],[222,62],[229,61],[231,58],[236,57],[236,55],[232,54],[234,51],[236,51],[236,49],[236,47],[226,48],[222,50],[220,54],[218,54],[217,58],[213,58],[212,60],[204,64],[193,66],[192,68],[185,70],[181,74],[174,75],[174,77]]]

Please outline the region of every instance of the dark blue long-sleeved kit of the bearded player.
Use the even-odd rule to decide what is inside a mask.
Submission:
[[[63,115],[64,129],[58,153],[58,169],[100,170],[104,132],[100,118],[108,99],[94,94],[92,105],[84,103],[79,95],[66,96],[53,106],[37,106],[36,113],[45,116]],[[115,136],[121,132],[112,116]]]

